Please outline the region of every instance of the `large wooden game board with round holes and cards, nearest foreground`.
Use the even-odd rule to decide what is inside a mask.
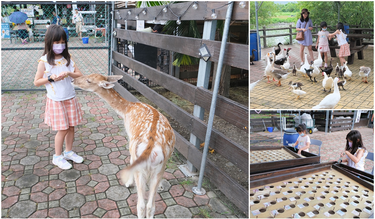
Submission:
[[[250,176],[250,218],[373,217],[374,186],[335,163]]]

